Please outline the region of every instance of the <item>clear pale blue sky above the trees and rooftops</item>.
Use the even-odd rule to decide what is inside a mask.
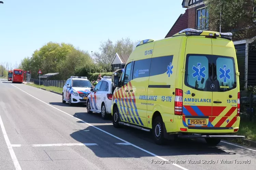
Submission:
[[[96,52],[102,41],[165,38],[182,0],[1,0],[0,64],[19,64],[49,41]]]

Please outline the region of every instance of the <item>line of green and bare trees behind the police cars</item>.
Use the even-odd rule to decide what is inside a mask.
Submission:
[[[111,61],[115,53],[130,55],[138,41],[122,38],[115,43],[108,39],[100,44],[93,56],[88,51],[75,48],[72,44],[48,42],[31,57],[25,57],[20,68],[31,71],[31,78],[38,79],[38,71],[43,74],[59,73],[55,80],[67,80],[71,75],[86,76],[92,73],[111,72]]]

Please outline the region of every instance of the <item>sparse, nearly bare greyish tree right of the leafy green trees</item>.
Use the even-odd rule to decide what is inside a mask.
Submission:
[[[111,61],[113,60],[116,53],[130,55],[133,49],[136,47],[136,43],[130,38],[122,38],[117,40],[115,43],[108,39],[107,41],[101,42],[100,52],[94,53],[94,60],[99,67],[102,68],[103,72],[111,71]]]

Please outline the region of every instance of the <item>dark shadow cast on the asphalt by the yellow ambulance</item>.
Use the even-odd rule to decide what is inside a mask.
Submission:
[[[111,133],[112,135],[115,135],[121,139],[124,139],[128,142],[131,142],[134,145],[137,145],[147,151],[150,151],[154,154],[157,154],[158,156],[174,156],[174,155],[235,155],[236,153],[233,152],[226,152],[224,151],[221,146],[217,147],[210,147],[207,145],[207,143],[204,140],[200,139],[177,139],[177,140],[169,140],[167,142],[167,145],[159,146],[156,145],[155,142],[152,139],[151,133],[144,132],[141,130],[129,128],[127,126],[123,126],[122,128],[116,129],[113,127],[112,120],[103,120],[100,118],[100,114],[88,114],[88,113],[75,113],[73,115],[76,118],[79,118],[86,123],[89,123],[96,128],[99,128],[105,132]],[[78,123],[84,123],[83,121],[77,121]],[[128,147],[128,146],[116,146],[114,145],[114,142],[109,143],[109,139],[104,139],[103,136],[106,134],[103,134],[99,130],[95,129],[93,126],[89,126],[86,129],[78,130],[70,136],[74,138],[76,141],[79,141],[81,143],[88,142],[88,139],[95,140],[95,143],[98,142],[98,140],[103,140],[104,145],[108,145],[107,148],[111,148],[109,152],[114,152],[116,150],[120,150],[120,147]],[[88,136],[88,132],[96,132],[93,134],[90,134]],[[99,139],[99,138],[103,139]],[[110,136],[111,137],[111,136]],[[111,137],[115,139],[114,137]],[[97,139],[97,140],[96,140]],[[122,142],[122,141],[119,141]],[[109,146],[111,145],[111,146]],[[117,147],[117,148],[116,148]],[[132,146],[129,146],[132,147]],[[89,146],[89,148],[95,152],[95,154],[98,157],[120,157],[119,154],[103,154],[103,152],[99,152],[99,148],[95,146]],[[129,150],[134,149],[134,147],[130,148]],[[122,149],[121,149],[122,150]],[[152,156],[149,154],[145,154],[145,152],[136,152],[141,153],[141,155],[137,155],[137,157],[144,157],[144,156]],[[112,156],[110,156],[112,155]],[[128,156],[129,157],[129,156]],[[136,156],[130,156],[130,157],[136,157]]]

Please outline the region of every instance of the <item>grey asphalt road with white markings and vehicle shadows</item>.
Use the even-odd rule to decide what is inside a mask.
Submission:
[[[0,89],[0,170],[256,169],[256,148],[225,142],[209,147],[199,139],[158,146],[149,133],[115,129],[111,119],[63,104],[60,95],[3,79]]]

